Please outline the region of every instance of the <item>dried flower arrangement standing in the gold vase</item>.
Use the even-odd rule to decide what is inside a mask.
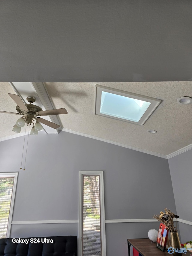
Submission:
[[[179,218],[179,216],[174,214],[170,210],[167,210],[167,208],[165,208],[165,212],[160,212],[160,214],[153,215],[153,218],[165,224],[165,226],[170,232],[177,231],[177,227],[174,227],[173,218],[177,219]]]

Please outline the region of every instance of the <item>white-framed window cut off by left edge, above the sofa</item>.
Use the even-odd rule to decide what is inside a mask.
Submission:
[[[13,214],[17,173],[0,173],[0,238],[8,238]]]

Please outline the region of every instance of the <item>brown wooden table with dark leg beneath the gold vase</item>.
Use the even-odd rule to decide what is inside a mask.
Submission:
[[[171,256],[172,254],[169,254],[166,251],[161,251],[159,248],[156,247],[156,242],[151,242],[151,240],[149,238],[142,238],[142,239],[127,239],[128,242],[128,254],[129,256],[131,256],[130,254],[130,247],[131,245],[140,252],[140,254],[142,254],[143,256],[152,256],[152,255],[156,255],[156,256]],[[190,255],[190,252],[187,251],[186,254],[183,253],[184,255]]]

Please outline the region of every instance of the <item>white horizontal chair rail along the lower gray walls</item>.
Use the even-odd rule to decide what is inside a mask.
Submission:
[[[152,219],[116,219],[105,220],[105,223],[131,223],[131,222],[157,222],[158,220]],[[192,226],[192,221],[178,219],[179,222]],[[46,220],[46,221],[12,221],[11,224],[55,224],[55,223],[78,223],[78,220]]]

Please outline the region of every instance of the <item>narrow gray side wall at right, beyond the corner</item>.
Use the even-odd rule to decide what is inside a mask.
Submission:
[[[192,221],[192,150],[168,160],[177,214],[180,219]],[[182,243],[192,239],[192,226],[179,222]]]

